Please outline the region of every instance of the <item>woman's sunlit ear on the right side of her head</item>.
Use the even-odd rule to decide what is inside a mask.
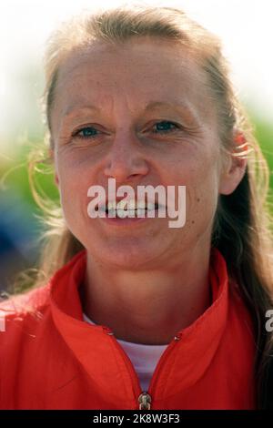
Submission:
[[[223,162],[220,180],[219,193],[230,195],[240,183],[246,173],[248,165],[247,153],[248,143],[244,134],[238,130],[234,132],[234,148],[227,153],[226,162]]]

